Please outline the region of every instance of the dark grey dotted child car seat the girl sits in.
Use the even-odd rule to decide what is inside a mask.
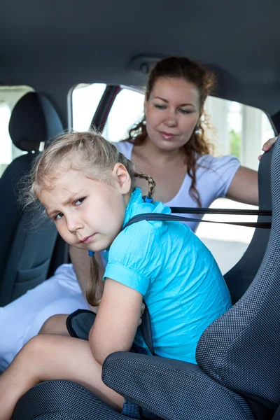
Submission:
[[[260,162],[260,177],[270,155],[265,154]],[[257,274],[244,295],[204,331],[197,344],[197,365],[127,352],[113,353],[104,362],[104,383],[160,419],[265,420],[272,419],[280,405],[279,159],[278,139],[271,172],[272,230],[265,256],[251,262],[258,266]],[[260,183],[265,187],[260,190],[260,200],[269,197],[269,169],[265,174],[267,182]],[[266,235],[263,240],[267,241]],[[258,244],[253,241],[253,246]],[[82,320],[82,324],[86,323]],[[20,398],[13,419],[130,417],[116,412],[83,386],[71,381],[47,381]]]

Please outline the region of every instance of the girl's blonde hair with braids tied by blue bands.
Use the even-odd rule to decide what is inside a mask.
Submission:
[[[45,147],[38,155],[31,169],[28,185],[25,188],[25,205],[34,204],[40,198],[42,190],[50,190],[52,182],[69,169],[80,170],[90,179],[111,183],[111,172],[116,163],[127,169],[131,178],[131,191],[135,188],[135,179],[148,181],[148,193],[151,198],[155,191],[155,181],[146,174],[135,172],[134,165],[113,144],[106,141],[98,132],[71,132],[63,134]],[[63,165],[62,165],[63,164]],[[98,264],[91,258],[91,279],[87,285],[87,302],[97,306],[96,290],[98,282]]]

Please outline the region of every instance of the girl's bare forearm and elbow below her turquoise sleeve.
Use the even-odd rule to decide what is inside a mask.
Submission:
[[[89,335],[92,355],[100,365],[114,351],[130,351],[139,325],[142,298],[137,290],[106,279]]]

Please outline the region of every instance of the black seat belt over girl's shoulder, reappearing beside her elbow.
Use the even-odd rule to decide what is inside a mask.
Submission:
[[[193,208],[190,207],[172,207],[172,211],[176,210],[176,213],[186,213],[186,210],[188,211],[188,213],[190,213],[190,210],[193,211]],[[178,211],[179,210],[179,211]],[[200,210],[202,212],[202,210],[204,211],[204,209],[195,209],[195,211],[197,212],[197,210]],[[205,209],[205,210],[214,210],[214,209]],[[220,210],[220,209],[218,209]],[[230,214],[228,212],[227,209],[223,209],[222,211],[226,211],[226,214]],[[245,211],[245,210],[244,210]],[[271,214],[271,211],[262,211],[265,213],[265,216],[269,216]],[[233,213],[235,214],[235,213]],[[248,213],[246,213],[248,214]],[[260,213],[258,213],[260,214]],[[246,227],[250,227],[250,228],[262,228],[262,229],[270,229],[271,228],[271,223],[270,222],[255,222],[255,223],[237,223],[237,222],[216,222],[216,221],[202,221],[200,219],[197,218],[190,218],[190,217],[182,217],[182,216],[174,216],[172,214],[156,214],[156,213],[143,213],[143,214],[137,214],[137,216],[134,216],[130,219],[130,221],[128,221],[126,223],[126,225],[123,227],[122,230],[125,230],[125,228],[128,228],[128,226],[133,225],[133,223],[137,223],[140,221],[162,221],[162,222],[166,222],[166,221],[174,221],[174,222],[207,222],[207,223],[225,223],[227,225],[239,225],[239,226],[246,226]],[[148,307],[146,305],[146,302],[143,300],[144,304],[145,304],[145,311],[144,314],[142,315],[142,323],[140,325],[140,331],[142,334],[142,337],[144,339],[144,342],[146,343],[146,346],[148,347],[149,351],[151,351],[151,354],[153,356],[158,356],[155,353],[155,349],[153,346],[153,335],[152,335],[152,327],[151,327],[151,316],[150,313],[148,311]]]

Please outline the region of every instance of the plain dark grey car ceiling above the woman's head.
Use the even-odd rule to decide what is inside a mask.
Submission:
[[[139,85],[142,62],[184,55],[214,69],[217,96],[280,110],[279,1],[9,0],[0,10],[2,85]]]

